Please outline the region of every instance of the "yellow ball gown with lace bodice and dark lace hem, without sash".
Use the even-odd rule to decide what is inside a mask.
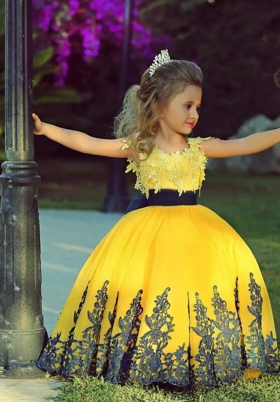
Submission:
[[[128,160],[135,188],[196,193],[202,141],[183,153],[157,146]],[[123,148],[129,147],[124,140]],[[180,204],[180,202],[179,202]],[[64,377],[213,388],[278,373],[271,306],[247,244],[202,205],[150,205],[125,214],[80,271],[37,362]]]

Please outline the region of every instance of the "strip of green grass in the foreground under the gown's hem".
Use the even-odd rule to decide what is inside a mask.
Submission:
[[[55,402],[279,402],[279,377],[263,375],[257,380],[239,380],[211,391],[194,393],[148,389],[138,385],[121,386],[102,378],[81,377],[65,381]]]

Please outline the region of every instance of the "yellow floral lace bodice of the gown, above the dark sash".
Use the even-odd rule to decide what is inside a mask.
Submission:
[[[177,189],[179,195],[186,191],[200,190],[205,179],[205,166],[207,158],[200,151],[201,143],[213,137],[188,138],[189,148],[182,153],[171,154],[158,148],[156,145],[152,153],[146,158],[139,155],[139,161],[127,159],[128,165],[125,173],[132,171],[136,174],[135,189],[140,190],[149,197],[149,190],[155,189],[158,193],[163,188]],[[129,148],[129,140],[122,140],[122,149]]]

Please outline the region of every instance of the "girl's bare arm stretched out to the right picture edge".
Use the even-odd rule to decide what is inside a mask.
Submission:
[[[210,139],[203,141],[201,151],[207,158],[228,158],[257,154],[280,143],[280,128],[256,132],[237,140]]]

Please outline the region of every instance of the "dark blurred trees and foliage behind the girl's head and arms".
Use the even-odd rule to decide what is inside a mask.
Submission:
[[[112,131],[113,117],[119,108],[117,92],[121,32],[120,35],[117,33],[123,18],[120,16],[122,10],[117,7],[124,2],[105,2],[107,8],[110,4],[113,8],[109,14],[100,2],[97,10],[98,0],[79,1],[79,10],[76,7],[71,14],[70,4],[73,2],[70,0],[61,1],[60,9],[51,6],[57,2],[34,0],[34,111],[44,121],[79,129],[95,137],[108,137]],[[3,3],[0,5],[2,139],[5,57]],[[48,18],[48,24],[51,19],[59,21],[59,30],[55,29],[55,23],[49,25],[48,29],[42,29],[46,20],[46,11],[45,15],[42,14],[43,4],[43,10],[53,13]],[[225,139],[234,135],[238,127],[253,115],[262,113],[271,119],[279,115],[279,91],[272,79],[280,65],[278,0],[142,0],[134,4],[137,25],[134,25],[136,32],[132,38],[128,85],[139,82],[154,55],[166,45],[173,59],[195,61],[204,72],[204,99],[195,135]],[[88,5],[92,5],[92,10],[93,6],[96,8],[94,13],[89,13],[89,7],[86,8]],[[53,9],[50,11],[48,7]],[[112,20],[113,13],[115,20]],[[70,22],[69,15],[72,16]],[[91,57],[85,57],[82,33],[86,27],[81,25],[82,19],[89,20],[102,33],[97,38],[98,50],[92,52]],[[66,24],[64,31],[63,24]],[[138,26],[146,30],[147,37],[150,35],[146,42],[139,30],[135,29]],[[62,65],[63,53],[63,47],[59,47],[60,32],[69,36],[69,49],[64,52],[67,73],[64,74],[63,85],[57,87],[55,74]],[[140,46],[141,40],[143,44]],[[35,151],[37,159],[49,158],[50,155],[54,158],[80,157],[74,151],[45,138],[36,138]]]

